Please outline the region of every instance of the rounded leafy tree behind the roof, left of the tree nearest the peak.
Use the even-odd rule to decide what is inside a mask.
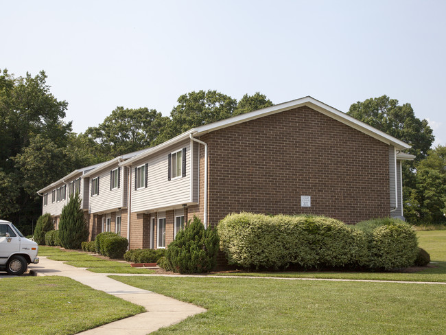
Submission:
[[[90,127],[85,135],[95,150],[108,159],[153,146],[165,128],[168,117],[148,108],[117,107],[102,124]],[[88,141],[83,137],[84,141]]]

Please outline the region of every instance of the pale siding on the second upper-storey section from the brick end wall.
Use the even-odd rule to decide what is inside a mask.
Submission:
[[[98,171],[97,174],[90,176],[90,180],[99,177],[99,194],[95,196],[91,196],[91,192],[89,194],[88,208],[90,213],[116,211],[117,209],[124,207],[123,198],[126,198],[127,194],[123,194],[123,187],[110,189],[110,186],[112,185],[111,178],[113,178],[113,174],[110,173],[110,171],[115,170],[115,168],[117,168],[117,165],[112,169],[109,167],[108,169]],[[121,168],[119,170],[119,185],[122,186],[124,169]]]

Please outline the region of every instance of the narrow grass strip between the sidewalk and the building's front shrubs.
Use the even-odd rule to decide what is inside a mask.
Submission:
[[[132,268],[127,263],[109,261],[78,251],[64,251],[51,246],[39,246],[38,255],[47,256],[55,261],[64,261],[65,264],[78,268],[89,268],[94,273],[155,273],[154,270]]]

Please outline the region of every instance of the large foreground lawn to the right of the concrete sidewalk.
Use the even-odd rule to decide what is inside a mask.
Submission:
[[[153,334],[444,334],[446,287],[242,278],[119,277],[208,309]]]

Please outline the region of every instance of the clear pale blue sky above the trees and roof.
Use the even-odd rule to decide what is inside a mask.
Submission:
[[[75,132],[116,106],[169,115],[187,92],[347,112],[388,95],[446,144],[446,1],[0,0],[0,69],[45,70]]]

